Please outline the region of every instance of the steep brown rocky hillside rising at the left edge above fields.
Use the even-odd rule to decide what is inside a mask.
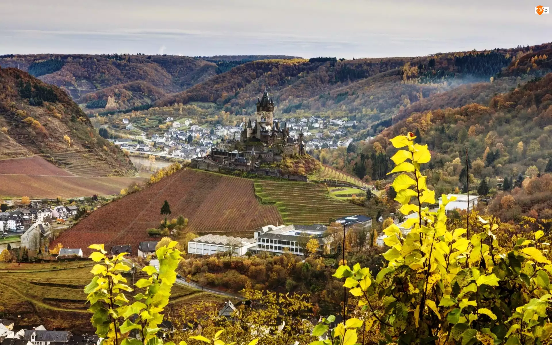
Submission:
[[[0,159],[82,150],[107,163],[113,174],[132,168],[60,88],[16,68],[0,68]]]

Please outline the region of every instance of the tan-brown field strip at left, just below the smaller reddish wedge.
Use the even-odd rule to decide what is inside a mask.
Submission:
[[[0,174],[0,197],[22,196],[42,199],[56,197],[76,198],[92,195],[119,194],[120,190],[142,178],[131,177],[75,177]]]

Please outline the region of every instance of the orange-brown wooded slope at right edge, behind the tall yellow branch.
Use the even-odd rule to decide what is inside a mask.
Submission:
[[[466,188],[462,171],[466,149],[474,191],[483,179],[491,189],[504,178],[519,180],[521,187],[525,178],[552,172],[552,73],[497,94],[487,103],[412,113],[374,139],[351,145],[347,152],[317,155],[365,181],[386,179],[389,158],[396,151],[389,139],[408,131],[432,151],[432,163],[424,168],[428,185],[439,195]]]

